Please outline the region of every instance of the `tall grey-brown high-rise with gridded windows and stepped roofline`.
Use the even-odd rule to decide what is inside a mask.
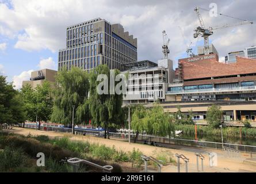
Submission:
[[[66,48],[60,49],[58,60],[58,70],[75,66],[90,71],[107,64],[124,71],[128,63],[137,62],[137,39],[120,24],[95,18],[67,27]]]

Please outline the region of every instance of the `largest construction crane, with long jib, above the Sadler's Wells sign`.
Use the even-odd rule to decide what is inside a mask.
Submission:
[[[221,26],[209,27],[207,29],[207,28],[205,28],[204,21],[202,20],[201,14],[199,12],[200,9],[209,11],[209,10],[203,9],[201,7],[196,7],[194,9],[194,11],[196,11],[196,16],[197,16],[198,22],[200,24],[194,30],[194,32],[195,32],[194,33],[194,38],[196,39],[198,36],[201,36],[201,37],[204,38],[204,54],[205,55],[209,54],[209,36],[211,36],[213,34],[212,30],[221,29],[221,28],[229,28],[229,27],[232,27],[232,26],[238,26],[238,25],[244,25],[244,24],[253,24],[253,22],[251,22],[251,21],[242,20],[240,18],[235,18],[235,17],[232,17],[232,16],[224,15],[224,14],[219,14],[220,16],[235,18],[237,20],[240,20],[241,22],[236,22],[235,24],[225,24],[225,25],[221,25]]]

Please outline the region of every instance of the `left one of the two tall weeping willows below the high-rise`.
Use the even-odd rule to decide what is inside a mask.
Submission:
[[[72,105],[75,106],[74,124],[89,120],[89,74],[80,68],[62,70],[56,76],[52,122],[72,123]]]

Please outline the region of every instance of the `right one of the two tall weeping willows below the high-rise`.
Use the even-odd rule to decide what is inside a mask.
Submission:
[[[106,86],[102,86],[106,93],[99,94],[97,91],[98,85],[104,81],[97,81],[97,77],[100,74],[104,74]],[[114,70],[114,76],[120,74],[119,70]],[[117,85],[117,81],[114,81],[114,86]],[[123,114],[121,106],[123,104],[123,94],[110,94],[110,70],[106,65],[99,65],[90,74],[90,97],[89,97],[89,109],[91,112],[93,125],[104,127],[105,139],[106,134],[109,133],[110,128],[117,128],[120,124],[123,124],[120,120]],[[106,87],[106,89],[104,89]],[[102,89],[102,88],[101,88]],[[109,136],[108,136],[109,138]]]

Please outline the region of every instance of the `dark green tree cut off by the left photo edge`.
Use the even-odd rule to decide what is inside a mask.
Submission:
[[[25,121],[24,102],[12,83],[0,75],[0,124],[16,124]]]

